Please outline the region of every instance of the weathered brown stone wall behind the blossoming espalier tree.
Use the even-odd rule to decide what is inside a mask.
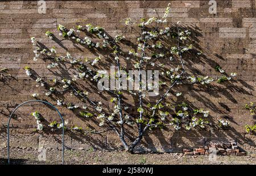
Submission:
[[[180,21],[196,34],[198,47],[204,54],[203,62],[193,63],[195,70],[209,76],[216,75],[214,66],[220,65],[226,72],[237,72],[236,81],[231,84],[216,85],[213,89],[196,91],[197,89],[182,89],[185,97],[197,108],[210,110],[212,119],[217,121],[226,117],[230,121],[230,130],[205,131],[156,131],[147,134],[138,149],[151,151],[181,151],[184,147],[195,147],[206,143],[222,143],[237,141],[246,151],[255,152],[256,139],[254,135],[246,135],[246,124],[253,125],[244,105],[255,101],[256,96],[256,63],[255,63],[255,1],[217,1],[217,14],[209,14],[209,1],[47,1],[46,14],[38,14],[36,1],[1,1],[0,2],[0,68],[10,68],[15,79],[6,83],[0,82],[0,146],[6,145],[7,116],[10,111],[23,101],[31,100],[35,91],[43,95],[43,89],[35,87],[35,82],[24,74],[24,66],[30,65],[39,75],[51,78],[52,72],[46,69],[43,61],[32,61],[32,45],[30,37],[38,38],[46,46],[56,46],[56,50],[65,54],[68,48],[73,55],[83,55],[92,58],[94,54],[88,50],[80,52],[71,41],[63,40],[61,47],[49,40],[44,33],[52,31],[57,35],[56,26],[61,23],[65,27],[75,27],[77,24],[96,24],[115,36],[124,27],[124,19],[148,18],[154,14],[153,8],[163,14],[167,4],[171,2],[169,22]],[[135,35],[131,33],[131,40]],[[84,48],[80,48],[84,49]],[[101,96],[92,95],[94,100],[103,101]],[[51,98],[40,96],[53,104]],[[72,96],[68,100],[76,102]],[[108,105],[108,103],[106,103]],[[20,108],[17,116],[11,121],[11,145],[33,147],[44,145],[49,148],[60,147],[61,135],[54,132],[38,134],[33,132],[35,120],[30,117],[32,111],[38,110],[46,121],[57,119],[57,114],[40,105],[26,105]],[[83,128],[97,125],[77,117],[71,111],[59,108],[65,119],[71,125]],[[68,132],[65,135],[67,148],[99,148],[119,149],[121,143],[114,132],[100,135],[79,135]],[[46,146],[47,145],[47,146]]]

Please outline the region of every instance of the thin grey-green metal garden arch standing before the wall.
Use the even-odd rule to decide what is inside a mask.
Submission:
[[[18,105],[12,112],[11,112],[11,115],[8,119],[8,123],[7,123],[7,155],[8,155],[8,164],[10,164],[10,121],[11,121],[11,117],[13,116],[13,114],[15,113],[15,111],[20,107],[20,106],[23,106],[24,104],[27,104],[28,102],[42,102],[44,104],[47,104],[47,105],[50,105],[52,106],[56,111],[57,113],[59,114],[60,118],[61,118],[61,122],[63,124],[63,127],[62,127],[62,164],[64,165],[64,119],[62,117],[62,115],[60,114],[60,111],[55,107],[53,106],[52,104],[50,104],[49,102],[47,101],[43,101],[43,100],[30,100],[30,101],[25,101],[23,102],[22,104]]]

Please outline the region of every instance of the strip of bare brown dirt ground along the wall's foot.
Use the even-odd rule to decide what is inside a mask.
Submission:
[[[61,151],[11,148],[12,164],[61,164]],[[39,161],[40,156],[46,160]],[[247,156],[184,156],[182,153],[130,154],[123,151],[87,151],[66,150],[65,164],[160,164],[160,165],[195,165],[195,164],[256,164],[256,153]],[[7,163],[7,148],[0,149],[0,164]]]

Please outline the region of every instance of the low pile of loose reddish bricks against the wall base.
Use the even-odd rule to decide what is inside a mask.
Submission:
[[[199,148],[192,149],[183,149],[185,155],[237,155],[245,156],[245,152],[241,152],[238,149],[237,143],[222,143],[221,145],[209,145],[209,146],[200,146]]]

